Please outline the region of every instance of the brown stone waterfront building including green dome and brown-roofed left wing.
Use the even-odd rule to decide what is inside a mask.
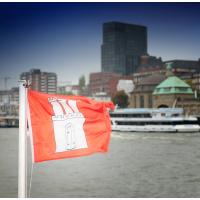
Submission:
[[[165,71],[134,74],[135,89],[131,93],[129,107],[178,107],[183,108],[187,114],[200,116],[200,101],[192,90],[192,84],[187,83],[189,79],[186,82],[174,72],[177,73],[177,69],[168,64]],[[193,76],[195,79],[192,80],[196,80],[198,85],[198,74]]]

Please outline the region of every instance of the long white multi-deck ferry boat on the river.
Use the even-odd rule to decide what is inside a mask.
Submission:
[[[198,119],[184,116],[182,108],[115,109],[110,112],[113,131],[198,132]]]

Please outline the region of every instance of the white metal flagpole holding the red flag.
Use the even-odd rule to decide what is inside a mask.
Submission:
[[[27,139],[27,87],[26,81],[19,81],[19,160],[18,160],[18,197],[27,197],[27,159],[26,159],[26,139]]]

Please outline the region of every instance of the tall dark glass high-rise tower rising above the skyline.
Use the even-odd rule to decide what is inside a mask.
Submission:
[[[130,75],[136,71],[140,56],[146,53],[147,27],[120,22],[103,24],[102,72]]]

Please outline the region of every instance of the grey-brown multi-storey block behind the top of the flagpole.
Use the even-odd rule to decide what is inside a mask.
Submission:
[[[44,93],[57,92],[57,75],[52,72],[42,72],[40,69],[31,69],[20,75],[21,80],[29,80],[31,88]]]

